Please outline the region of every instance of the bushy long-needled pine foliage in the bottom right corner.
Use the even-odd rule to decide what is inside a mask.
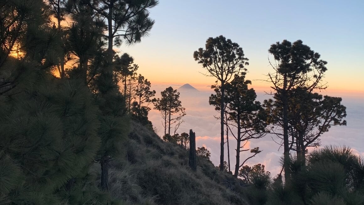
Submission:
[[[251,205],[364,204],[363,159],[348,147],[324,147],[310,153],[307,163],[296,157],[285,163],[291,173],[289,183],[281,177],[271,180],[264,172],[250,176],[245,197]]]

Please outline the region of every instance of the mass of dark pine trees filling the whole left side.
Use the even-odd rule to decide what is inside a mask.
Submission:
[[[141,11],[118,12],[146,17],[158,2],[139,3]],[[117,202],[101,190],[130,119],[98,11],[91,2],[63,0],[1,1],[0,9],[0,204]],[[134,25],[130,43],[148,32]],[[100,173],[92,172],[95,161]]]

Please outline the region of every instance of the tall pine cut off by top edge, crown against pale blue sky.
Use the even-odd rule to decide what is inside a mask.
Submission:
[[[107,39],[107,61],[109,66],[105,75],[112,75],[114,45],[120,46],[125,40],[129,44],[141,41],[143,36],[154,25],[149,17],[149,9],[158,4],[157,0],[83,0],[93,9],[94,17],[104,28],[104,38]]]

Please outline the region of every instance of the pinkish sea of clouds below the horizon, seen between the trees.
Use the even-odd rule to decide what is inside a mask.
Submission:
[[[171,85],[174,89],[179,88],[181,85]],[[166,85],[157,85],[152,88],[157,91],[156,97],[160,96],[160,92],[164,90]],[[197,87],[199,88],[199,87]],[[180,91],[180,100],[182,106],[186,108],[186,116],[183,118],[184,122],[178,128],[177,133],[189,133],[192,129],[196,134],[196,147],[206,147],[211,153],[211,161],[214,165],[219,164],[220,158],[220,121],[214,116],[219,113],[214,110],[214,107],[209,105],[209,96],[213,90],[199,88],[199,92]],[[159,94],[159,95],[158,95]],[[264,99],[270,98],[270,95],[264,92],[257,92],[257,100],[263,102]],[[321,136],[321,146],[335,145],[335,146],[348,146],[352,151],[364,156],[364,96],[343,96],[342,104],[347,107],[347,126],[331,127],[329,132]],[[153,106],[152,106],[153,107]],[[149,120],[153,123],[154,127],[158,130],[159,136],[164,134],[162,126],[162,118],[157,110],[151,110],[149,113]],[[171,131],[173,129],[171,128]],[[275,176],[281,171],[280,158],[283,153],[283,148],[273,141],[280,142],[276,136],[269,134],[261,139],[253,139],[248,142],[244,149],[253,149],[259,147],[263,150],[262,153],[256,157],[249,159],[245,165],[253,166],[257,163],[265,165],[265,169]],[[226,138],[225,138],[226,140]],[[231,170],[235,167],[236,156],[236,140],[229,134],[229,147],[230,147],[230,166]],[[315,149],[315,148],[312,148]],[[312,150],[311,149],[311,150]],[[316,148],[317,149],[317,148]],[[227,145],[225,143],[225,161],[227,161]],[[240,163],[249,157],[249,151],[240,154]]]

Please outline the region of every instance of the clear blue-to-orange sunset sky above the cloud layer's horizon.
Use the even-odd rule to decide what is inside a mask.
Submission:
[[[223,35],[249,59],[247,79],[265,80],[271,44],[301,39],[328,62],[329,91],[364,95],[364,1],[160,0],[141,43],[119,48],[151,83],[209,86],[215,79],[193,59],[206,39]],[[271,56],[272,57],[272,56]],[[273,58],[270,58],[273,59]],[[269,87],[253,81],[256,89]]]

